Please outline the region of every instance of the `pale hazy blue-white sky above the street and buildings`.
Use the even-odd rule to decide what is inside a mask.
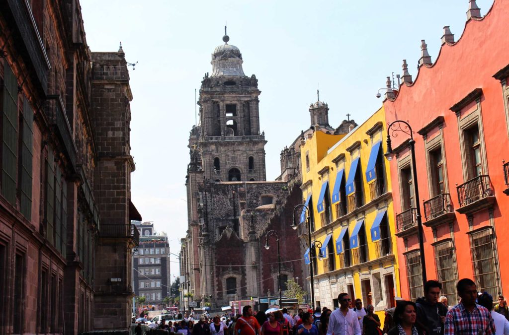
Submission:
[[[482,15],[492,4],[477,0]],[[139,62],[129,73],[132,200],[144,221],[167,232],[178,254],[187,230],[194,90],[212,70],[225,23],[244,73],[259,80],[267,179],[273,180],[281,149],[310,126],[308,107],[318,87],[333,127],[347,113],[362,123],[380,108],[377,90],[392,72],[401,74],[402,59],[415,78],[420,40],[434,62],[444,25],[460,38],[468,0],[81,0],[81,7],[92,51],[117,51],[122,41],[126,60]],[[179,268],[177,257],[171,260],[173,281]]]

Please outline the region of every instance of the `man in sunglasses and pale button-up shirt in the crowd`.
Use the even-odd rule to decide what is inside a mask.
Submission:
[[[348,293],[340,293],[337,300],[340,302],[340,308],[330,315],[327,335],[361,335],[357,313],[348,308],[352,301]]]

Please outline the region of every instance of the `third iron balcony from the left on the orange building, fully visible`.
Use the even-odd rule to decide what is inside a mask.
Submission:
[[[461,214],[473,214],[493,206],[495,196],[491,188],[490,177],[480,175],[464,184],[457,186],[460,208],[456,209]]]

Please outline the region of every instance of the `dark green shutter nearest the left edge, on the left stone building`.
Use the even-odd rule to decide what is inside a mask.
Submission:
[[[16,205],[16,163],[18,157],[18,82],[4,62],[2,194]]]

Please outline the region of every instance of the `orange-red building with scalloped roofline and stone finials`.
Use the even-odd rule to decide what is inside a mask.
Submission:
[[[503,161],[509,162],[509,2],[495,0],[483,17],[474,0],[468,4],[461,38],[455,41],[444,27],[435,63],[422,41],[415,81],[404,62],[399,92],[389,88],[384,100],[387,122],[408,120],[415,132],[427,277],[443,283],[450,305],[462,278],[473,279],[479,292],[509,290],[503,241],[509,235],[509,163]],[[391,139],[401,289],[415,299],[422,295],[422,270],[411,156],[406,135]]]

